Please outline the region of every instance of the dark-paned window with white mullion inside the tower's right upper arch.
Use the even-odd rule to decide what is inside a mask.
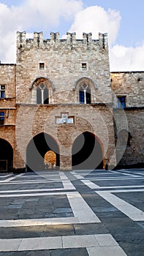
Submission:
[[[82,104],[91,103],[91,89],[88,84],[82,83],[79,88],[79,102]]]

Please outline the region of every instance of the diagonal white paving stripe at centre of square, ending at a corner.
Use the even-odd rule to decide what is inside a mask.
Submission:
[[[78,192],[67,193],[72,212],[80,223],[101,222]]]

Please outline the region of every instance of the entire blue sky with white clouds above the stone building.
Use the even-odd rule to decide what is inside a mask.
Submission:
[[[110,72],[144,71],[144,1],[130,0],[0,0],[0,61],[16,63],[16,31],[67,31],[108,34]]]

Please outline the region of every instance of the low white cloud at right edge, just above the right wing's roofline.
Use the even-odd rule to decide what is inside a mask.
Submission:
[[[114,45],[110,48],[110,71],[143,71],[144,43],[136,48]]]

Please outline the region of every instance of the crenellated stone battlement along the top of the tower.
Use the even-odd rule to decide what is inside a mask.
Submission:
[[[99,39],[92,39],[91,33],[83,32],[83,39],[77,39],[76,33],[67,32],[66,39],[60,39],[59,32],[50,32],[50,39],[43,38],[43,32],[34,31],[34,38],[27,39],[26,31],[17,32],[17,48],[18,49],[30,49],[30,48],[63,48],[68,47],[73,50],[77,47],[85,47],[85,48],[95,48],[99,47],[100,49],[107,50],[108,42],[107,42],[107,33],[102,34],[99,33]]]

